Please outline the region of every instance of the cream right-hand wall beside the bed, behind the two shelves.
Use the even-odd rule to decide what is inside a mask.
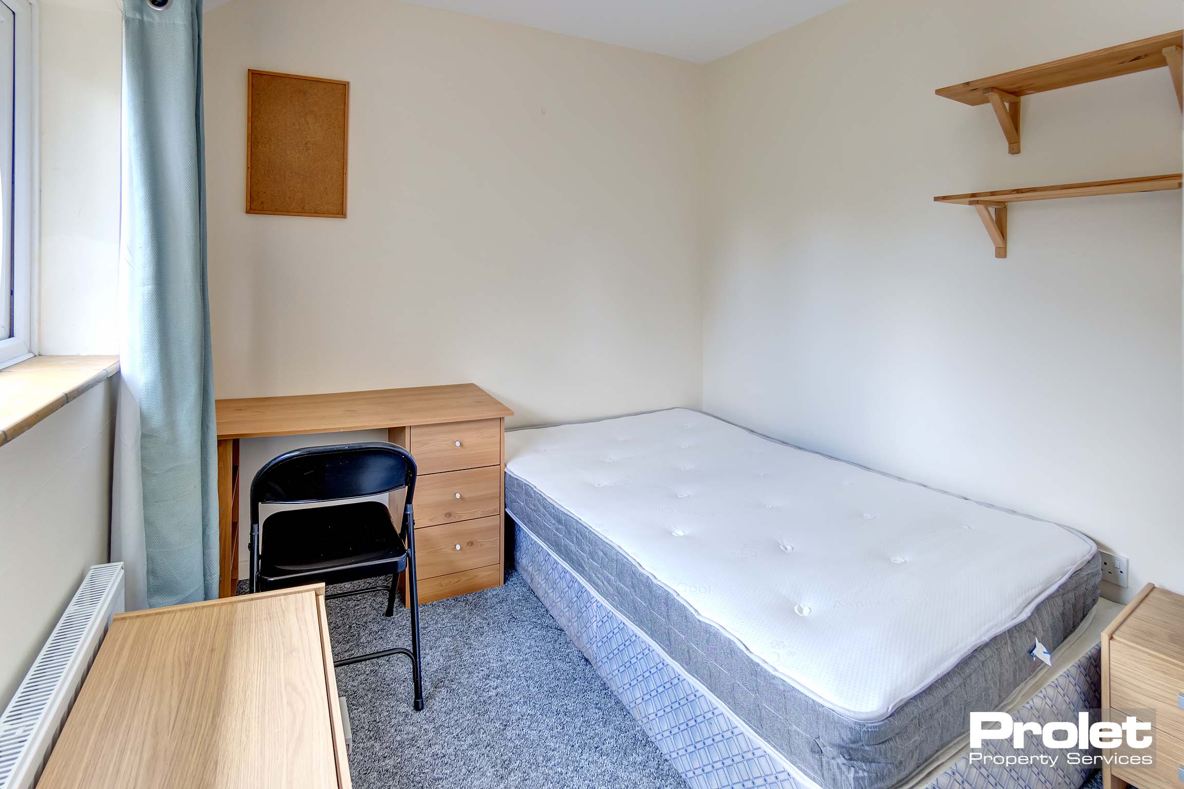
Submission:
[[[1180,172],[1164,70],[1025,98],[1016,156],[933,95],[1178,27],[1178,0],[854,0],[712,64],[706,409],[1184,591],[1179,193],[1016,206],[1005,260],[932,202]]]

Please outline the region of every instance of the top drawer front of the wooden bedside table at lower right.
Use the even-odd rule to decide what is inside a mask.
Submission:
[[[1111,706],[1154,710],[1156,727],[1184,741],[1184,667],[1118,640],[1109,653]]]

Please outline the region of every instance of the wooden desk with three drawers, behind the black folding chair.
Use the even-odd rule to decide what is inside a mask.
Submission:
[[[416,457],[419,601],[501,586],[506,418],[474,383],[219,400],[218,595],[238,583],[239,439],[382,428]],[[310,442],[315,444],[315,442]]]

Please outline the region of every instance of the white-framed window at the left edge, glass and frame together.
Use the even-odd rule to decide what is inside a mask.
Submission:
[[[32,350],[32,17],[0,0],[0,366]]]

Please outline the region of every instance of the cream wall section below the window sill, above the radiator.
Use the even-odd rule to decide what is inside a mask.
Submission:
[[[0,709],[86,568],[108,561],[116,381],[0,447]]]

